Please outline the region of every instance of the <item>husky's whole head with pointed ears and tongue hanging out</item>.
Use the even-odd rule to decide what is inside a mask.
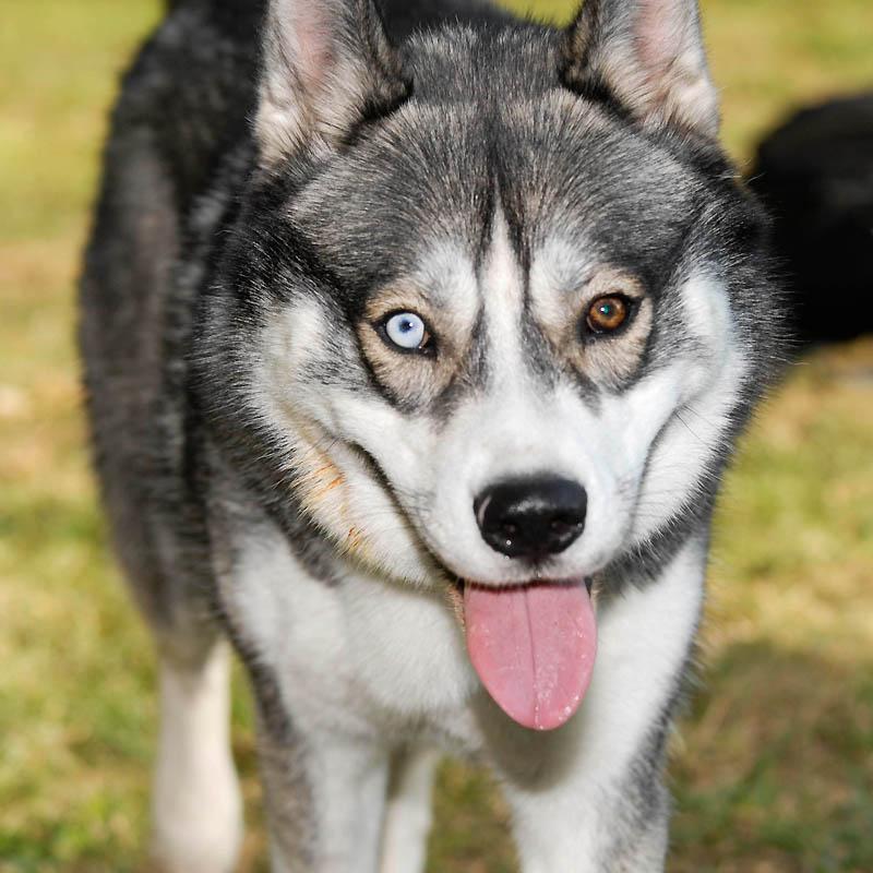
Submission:
[[[237,457],[364,565],[463,585],[468,634],[590,636],[583,583],[708,510],[763,382],[778,307],[717,112],[694,0],[399,47],[369,0],[275,0],[201,332]],[[525,723],[581,696],[519,716],[483,646]]]

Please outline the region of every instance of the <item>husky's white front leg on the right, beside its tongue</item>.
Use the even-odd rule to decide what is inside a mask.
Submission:
[[[663,748],[699,620],[705,563],[705,543],[689,542],[657,578],[601,599],[594,680],[562,728],[516,729],[483,707],[525,873],[663,870]]]

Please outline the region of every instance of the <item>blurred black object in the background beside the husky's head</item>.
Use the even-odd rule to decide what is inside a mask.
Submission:
[[[750,179],[776,216],[801,340],[873,332],[873,94],[798,112]]]

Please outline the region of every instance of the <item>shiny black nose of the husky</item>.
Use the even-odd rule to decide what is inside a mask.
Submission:
[[[473,503],[482,539],[510,558],[542,559],[562,552],[582,534],[588,497],[557,477],[503,482]]]

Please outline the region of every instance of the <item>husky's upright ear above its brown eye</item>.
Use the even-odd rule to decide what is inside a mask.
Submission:
[[[564,51],[564,81],[574,91],[606,89],[649,127],[718,135],[696,0],[586,0]]]

